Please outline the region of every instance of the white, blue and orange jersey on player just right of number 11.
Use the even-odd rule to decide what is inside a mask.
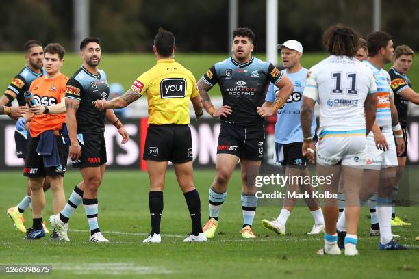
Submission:
[[[379,69],[368,60],[364,63],[374,73],[377,83],[377,116],[375,120],[383,131],[392,130],[392,112],[390,111],[390,98],[393,97],[390,75],[386,70]]]

